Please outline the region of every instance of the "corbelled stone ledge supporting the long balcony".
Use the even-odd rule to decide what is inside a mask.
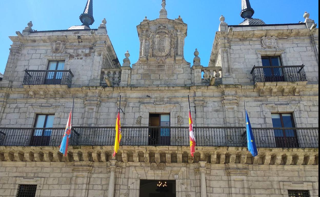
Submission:
[[[270,165],[318,165],[318,148],[258,148],[252,157],[246,147],[121,146],[115,159],[123,163],[242,163]],[[109,162],[113,146],[69,146],[68,155],[59,147],[0,146],[0,161]]]

